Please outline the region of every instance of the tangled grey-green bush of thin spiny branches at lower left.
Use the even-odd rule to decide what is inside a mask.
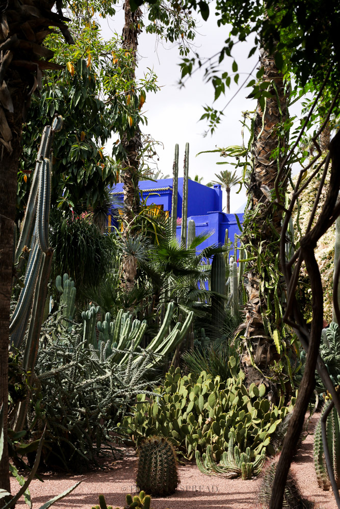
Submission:
[[[82,341],[82,325],[70,325],[56,313],[43,326],[29,423],[33,437],[46,423],[46,467],[82,471],[98,466],[102,444],[112,442],[110,431],[145,391],[150,354],[126,369],[98,358]]]

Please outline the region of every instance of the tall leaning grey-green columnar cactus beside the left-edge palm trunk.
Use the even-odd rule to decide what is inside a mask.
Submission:
[[[23,267],[22,251],[24,246],[30,246],[24,286],[10,322],[11,345],[19,348],[31,316],[23,356],[23,368],[31,373],[29,383],[32,381],[38,353],[40,330],[47,298],[47,283],[53,256],[53,249],[48,244],[51,146],[54,133],[61,130],[62,123],[62,118],[58,116],[54,119],[52,126],[44,128],[21,235],[14,257],[16,269],[20,271]],[[18,407],[15,431],[21,431],[24,426],[28,399],[29,397]]]

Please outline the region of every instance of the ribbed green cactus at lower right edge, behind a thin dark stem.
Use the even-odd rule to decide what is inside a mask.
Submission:
[[[321,415],[323,415],[326,408],[327,403],[325,404]],[[333,407],[327,417],[326,438],[336,484],[338,488],[340,488],[340,419],[335,407]],[[331,485],[327,473],[322,443],[321,418],[319,419],[314,435],[314,465],[320,488],[323,490],[329,490]]]

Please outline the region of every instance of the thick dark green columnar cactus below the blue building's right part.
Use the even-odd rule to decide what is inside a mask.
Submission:
[[[225,261],[222,253],[216,253],[213,257],[211,270],[211,290],[218,295],[212,295],[212,326],[214,335],[219,335],[224,324],[225,302]]]

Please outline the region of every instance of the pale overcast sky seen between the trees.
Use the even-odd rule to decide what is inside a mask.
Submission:
[[[103,37],[109,39],[114,32],[119,35],[123,27],[123,12],[118,11],[114,18],[101,20]],[[211,8],[211,15],[208,21],[200,20],[197,28],[197,38],[193,50],[197,51],[204,58],[208,58],[219,51],[224,40],[229,35],[230,27],[218,27],[214,11]],[[239,65],[241,84],[256,62],[258,55],[247,59],[247,55],[253,45],[242,43],[235,46],[234,58]],[[193,55],[192,55],[193,56]],[[211,83],[203,81],[203,70],[199,70],[186,81],[185,88],[179,88],[180,78],[180,56],[178,44],[163,44],[157,41],[152,34],[142,33],[139,37],[139,63],[137,77],[143,76],[147,68],[152,68],[158,76],[158,84],[161,90],[156,93],[147,94],[144,111],[148,118],[148,126],[144,132],[149,133],[154,139],[163,143],[159,146],[159,169],[163,174],[172,176],[172,163],[175,144],[179,144],[179,176],[182,176],[182,161],[184,158],[185,144],[190,144],[189,176],[194,178],[196,174],[203,177],[203,183],[214,180],[214,174],[226,165],[216,165],[222,160],[219,154],[202,154],[195,157],[202,150],[212,150],[217,147],[229,145],[241,145],[241,123],[242,111],[254,110],[256,102],[246,99],[250,89],[243,88],[231,101],[225,110],[223,122],[214,135],[208,134],[203,137],[207,129],[205,121],[199,119],[203,114],[202,106],[212,105],[214,90]],[[232,59],[225,59],[224,69],[231,73]],[[242,74],[245,73],[245,74]],[[239,86],[231,84],[226,96],[220,98],[214,107],[222,109]],[[109,149],[109,147],[108,147]],[[230,212],[236,212],[245,203],[245,193],[235,194],[237,188],[233,188],[230,196]],[[225,193],[224,193],[225,194]],[[223,206],[225,206],[225,196]]]

